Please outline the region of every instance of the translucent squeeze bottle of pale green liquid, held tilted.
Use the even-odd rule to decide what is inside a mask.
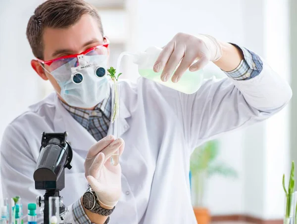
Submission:
[[[213,77],[213,75],[209,73],[204,74],[203,70],[190,72],[188,69],[177,83],[173,83],[171,78],[175,72],[174,70],[174,72],[170,74],[170,78],[168,78],[166,82],[163,82],[161,80],[162,70],[159,72],[153,71],[153,66],[161,51],[162,48],[150,46],[144,52],[135,54],[129,53],[128,55],[133,57],[133,62],[138,65],[138,72],[142,77],[186,94],[195,93],[200,88],[204,79]]]

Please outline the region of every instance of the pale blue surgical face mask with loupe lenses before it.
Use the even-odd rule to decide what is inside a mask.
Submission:
[[[109,94],[106,65],[107,55],[79,55],[78,59],[72,59],[50,74],[59,84],[60,95],[68,105],[90,108]]]

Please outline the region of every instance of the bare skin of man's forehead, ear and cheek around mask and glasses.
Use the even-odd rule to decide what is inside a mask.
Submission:
[[[45,28],[43,35],[44,60],[48,61],[69,54],[78,54],[86,49],[106,42],[98,27],[98,22],[89,14],[85,14],[69,28]],[[49,80],[59,94],[61,88],[56,80],[46,72],[37,60],[32,60],[33,69],[44,79]],[[50,71],[49,66],[45,68]],[[60,97],[61,98],[61,97]]]

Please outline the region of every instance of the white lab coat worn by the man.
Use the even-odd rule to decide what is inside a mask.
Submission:
[[[123,193],[111,224],[195,224],[189,186],[193,149],[218,134],[263,121],[292,96],[287,82],[265,63],[253,79],[208,80],[191,95],[144,78],[135,84],[122,81],[121,88]],[[65,170],[60,195],[69,205],[66,222],[74,223],[70,204],[87,189],[84,160],[96,140],[55,93],[7,127],[1,143],[2,189],[4,196],[20,195],[27,214],[27,204],[43,195],[35,190],[33,180],[41,134],[64,131],[73,148],[73,168]]]

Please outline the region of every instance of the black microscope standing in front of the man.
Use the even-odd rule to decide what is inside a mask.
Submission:
[[[33,175],[35,189],[46,190],[43,198],[38,196],[36,203],[39,207],[44,204],[44,224],[49,224],[49,197],[60,198],[60,219],[64,220],[67,207],[59,191],[65,187],[65,168],[72,168],[72,149],[66,140],[67,133],[43,133],[40,154]]]

